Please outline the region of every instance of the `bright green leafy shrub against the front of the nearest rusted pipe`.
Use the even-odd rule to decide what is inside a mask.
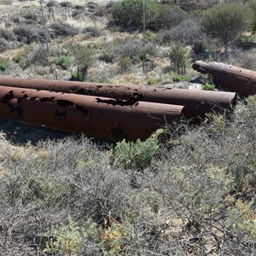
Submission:
[[[160,150],[158,136],[162,130],[156,131],[146,141],[137,139],[136,143],[122,142],[117,143],[113,150],[115,162],[125,169],[143,170],[150,166],[154,161],[154,156]]]

